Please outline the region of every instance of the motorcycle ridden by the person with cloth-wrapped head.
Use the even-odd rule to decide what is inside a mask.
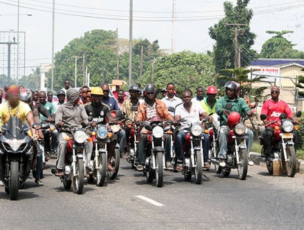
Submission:
[[[62,128],[69,130],[70,135],[66,136],[67,148],[64,161],[64,175],[60,176],[65,189],[70,189],[73,185],[73,193],[82,194],[84,190],[84,148],[88,139],[84,128],[71,129],[64,125]],[[56,168],[52,173],[56,173]]]

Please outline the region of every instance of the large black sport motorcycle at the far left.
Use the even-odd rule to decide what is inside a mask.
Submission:
[[[47,129],[35,123],[33,129]],[[5,185],[5,191],[10,200],[18,199],[18,191],[29,176],[30,169],[35,167],[33,156],[32,134],[30,127],[24,125],[16,117],[1,127],[3,135],[0,136],[0,179]]]

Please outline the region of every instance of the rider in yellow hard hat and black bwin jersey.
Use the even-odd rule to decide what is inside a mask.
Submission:
[[[104,104],[101,101],[103,95],[103,91],[100,87],[93,87],[92,88],[92,101],[85,104],[85,110],[88,116],[93,117],[92,126],[95,127],[96,123],[98,124],[106,124],[107,122],[114,122],[114,119],[111,116],[111,111],[109,106]],[[113,171],[112,166],[110,165],[110,159],[115,151],[115,146],[117,143],[117,136],[112,134],[110,137],[110,142],[107,144],[107,152],[108,152],[108,159],[107,159],[107,168],[110,171]],[[88,167],[93,167],[91,160],[93,151],[93,142],[89,142],[88,146]]]

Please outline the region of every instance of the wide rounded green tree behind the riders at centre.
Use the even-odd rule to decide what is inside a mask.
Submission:
[[[153,65],[153,73],[151,72]],[[206,88],[215,84],[215,68],[207,54],[183,51],[157,58],[144,73],[142,87],[154,83],[162,89],[174,83],[177,92],[189,88],[195,92],[198,86]]]

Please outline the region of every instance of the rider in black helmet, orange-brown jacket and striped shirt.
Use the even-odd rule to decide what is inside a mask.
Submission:
[[[142,122],[152,122],[155,119],[173,120],[173,117],[168,112],[164,102],[156,98],[156,88],[154,84],[147,84],[144,88],[144,103],[140,104],[138,107],[138,115],[136,118],[137,125],[141,125]],[[146,136],[142,133],[145,129],[142,128],[140,132],[139,144],[138,144],[138,165],[137,170],[143,170],[143,164],[145,162],[145,146],[147,143]],[[165,137],[165,158],[166,158],[166,168],[172,170],[172,164],[170,159],[170,136]]]

